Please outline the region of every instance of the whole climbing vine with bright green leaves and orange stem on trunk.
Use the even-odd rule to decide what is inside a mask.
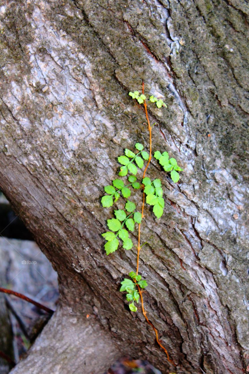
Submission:
[[[147,322],[153,327],[156,333],[156,340],[160,347],[165,351],[168,361],[171,361],[168,352],[165,347],[159,341],[158,331],[154,325],[149,321],[142,298],[141,288],[148,286],[147,281],[142,279],[142,276],[138,274],[139,270],[139,252],[143,245],[140,246],[140,235],[141,235],[141,223],[144,218],[144,206],[145,199],[148,205],[153,206],[153,213],[156,218],[160,218],[163,215],[163,209],[165,207],[165,202],[163,199],[163,189],[162,183],[159,178],[151,180],[145,177],[147,168],[151,162],[152,158],[152,136],[150,125],[150,120],[147,111],[147,98],[144,95],[144,83],[142,85],[142,93],[139,94],[138,91],[129,92],[129,95],[138,101],[139,104],[144,105],[145,115],[148,124],[148,131],[150,136],[150,150],[147,152],[141,143],[135,144],[135,150],[125,149],[124,154],[118,157],[118,162],[121,164],[119,170],[119,177],[126,177],[126,182],[123,179],[117,178],[112,181],[112,185],[104,187],[106,195],[101,199],[103,207],[110,208],[113,203],[116,203],[122,195],[123,199],[119,204],[120,208],[114,210],[114,216],[116,218],[111,218],[107,220],[107,226],[110,231],[102,234],[102,236],[107,241],[105,243],[106,254],[109,255],[115,252],[119,245],[126,250],[132,249],[134,244],[130,238],[130,232],[134,232],[136,224],[138,224],[138,245],[137,245],[137,265],[136,272],[131,271],[129,273],[129,278],[124,278],[121,282],[120,291],[126,292],[126,300],[129,301],[129,308],[132,312],[136,312],[137,307],[134,302],[138,304],[139,298],[141,298],[142,312],[145,316]],[[167,107],[162,99],[157,99],[153,95],[149,97],[150,103],[156,103],[157,108]],[[159,164],[163,167],[166,172],[170,172],[170,177],[174,183],[179,181],[180,175],[179,171],[182,169],[178,166],[175,158],[169,158],[169,154],[164,151],[155,151],[154,158],[158,160]],[[143,169],[146,163],[142,177],[137,177],[139,175],[139,169]],[[128,175],[129,174],[129,175]],[[128,175],[128,177],[127,177]],[[132,192],[135,190],[141,190],[142,193],[142,210],[138,211],[137,206],[129,198]],[[119,200],[120,201],[120,200]],[[122,242],[120,242],[120,240]],[[172,362],[172,361],[171,361]]]

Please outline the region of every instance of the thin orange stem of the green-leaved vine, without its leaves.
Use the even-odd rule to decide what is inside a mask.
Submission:
[[[144,95],[144,82],[142,82],[142,93]],[[146,168],[144,169],[144,175],[143,175],[143,179],[145,178],[145,173],[146,173],[146,170],[150,164],[150,161],[151,161],[151,148],[152,148],[152,142],[151,142],[151,125],[150,125],[150,120],[149,120],[149,116],[148,116],[148,111],[147,111],[147,104],[146,104],[146,101],[144,100],[144,109],[145,109],[145,115],[146,115],[146,119],[147,119],[147,123],[148,123],[148,130],[149,130],[149,133],[150,133],[150,156],[149,156],[149,159],[148,159],[148,163],[146,165]],[[142,203],[142,218],[144,217],[144,200],[145,200],[145,193],[144,193],[144,185],[143,185],[143,203]],[[141,227],[141,223],[139,223],[138,225],[138,255],[137,255],[137,263],[136,263],[136,275],[138,275],[138,267],[139,267],[139,252],[140,252],[140,227]],[[135,281],[136,283],[136,281]],[[136,285],[138,286],[138,292],[139,292],[139,295],[141,297],[141,305],[142,305],[142,312],[143,312],[143,315],[146,319],[146,321],[148,322],[149,325],[151,325],[151,327],[153,327],[154,331],[155,331],[155,334],[156,334],[156,341],[157,341],[157,344],[159,344],[159,346],[165,351],[166,353],[166,356],[167,356],[167,360],[173,364],[174,366],[176,366],[174,364],[174,362],[170,359],[169,357],[169,353],[167,352],[167,349],[160,343],[160,340],[159,340],[159,337],[158,337],[158,331],[156,329],[156,327],[153,325],[152,322],[150,322],[150,320],[148,319],[147,315],[146,315],[146,311],[144,309],[144,301],[143,301],[143,297],[142,297],[142,292],[141,292],[141,289],[138,285],[138,283],[136,283]]]

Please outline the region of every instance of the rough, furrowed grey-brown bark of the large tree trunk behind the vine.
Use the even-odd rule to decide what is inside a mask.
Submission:
[[[0,187],[58,272],[61,303],[13,373],[102,373],[127,352],[163,374],[245,372],[246,11],[240,0],[0,7]],[[145,308],[176,369],[119,292],[135,248],[107,257],[101,237],[116,157],[148,144],[144,113],[127,95],[142,80],[168,105],[150,111],[153,151],[184,168],[173,185],[151,163],[166,209],[160,220],[146,209],[140,265]],[[88,340],[94,369],[83,367]]]

